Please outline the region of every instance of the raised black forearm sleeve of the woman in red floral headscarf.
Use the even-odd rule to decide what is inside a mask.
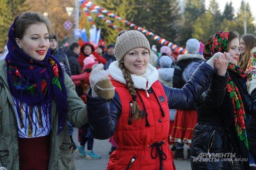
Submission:
[[[217,108],[223,103],[226,86],[228,84],[228,72],[225,76],[214,74],[210,84],[206,86],[199,98],[199,101],[206,108]]]

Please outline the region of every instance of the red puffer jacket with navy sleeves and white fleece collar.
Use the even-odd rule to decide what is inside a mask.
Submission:
[[[118,144],[118,149],[110,156],[107,170],[174,170],[167,142],[169,108],[186,108],[197,101],[197,96],[214,72],[203,62],[182,89],[169,88],[160,83],[157,80],[158,71],[151,65],[148,65],[145,77],[131,75],[136,101],[144,117],[130,122],[132,96],[124,85],[126,82],[118,63],[112,62],[109,73],[115,87],[114,98],[106,101],[92,97],[90,89],[86,103],[92,136],[108,139],[114,135]]]

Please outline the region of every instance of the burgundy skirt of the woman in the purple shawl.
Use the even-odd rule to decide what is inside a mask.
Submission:
[[[37,138],[18,138],[20,170],[48,170],[50,134]]]

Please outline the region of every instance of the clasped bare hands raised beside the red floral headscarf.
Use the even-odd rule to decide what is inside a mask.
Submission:
[[[219,74],[220,76],[226,75],[229,60],[230,54],[226,52],[224,52],[224,54],[218,54],[218,58],[214,58],[214,68],[216,69],[217,74]]]

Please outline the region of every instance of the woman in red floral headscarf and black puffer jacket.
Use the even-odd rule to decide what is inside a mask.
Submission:
[[[233,31],[214,34],[204,46],[204,58],[208,60],[217,52],[228,52],[232,57],[226,73],[227,84],[217,90],[212,83],[223,82],[211,82],[196,103],[198,124],[191,144],[191,167],[192,170],[247,170],[245,113],[256,112],[256,106],[246,89],[246,74],[236,65],[240,56],[238,34]]]

